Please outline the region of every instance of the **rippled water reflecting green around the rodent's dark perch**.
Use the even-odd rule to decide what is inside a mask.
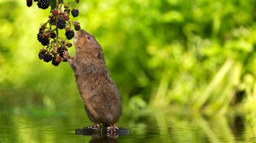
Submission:
[[[126,118],[126,119],[124,119]],[[122,117],[117,126],[130,131],[116,139],[75,134],[91,125],[85,114],[2,111],[1,142],[255,142],[256,126],[245,117],[174,116],[154,113],[136,121]]]

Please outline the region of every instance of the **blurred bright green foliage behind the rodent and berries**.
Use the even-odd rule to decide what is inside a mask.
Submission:
[[[80,1],[78,9],[81,27],[103,48],[125,115],[185,106],[210,115],[235,109],[253,118],[253,5],[252,0],[114,0]],[[27,8],[23,1],[1,1],[0,8],[0,104],[51,111],[82,106],[69,65],[53,67],[37,56],[36,35],[50,8],[35,3]]]

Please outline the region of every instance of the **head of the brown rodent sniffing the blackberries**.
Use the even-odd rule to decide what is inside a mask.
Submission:
[[[74,38],[74,45],[77,53],[95,54],[97,51],[102,51],[102,48],[92,34],[80,29]],[[98,53],[98,52],[97,52]]]

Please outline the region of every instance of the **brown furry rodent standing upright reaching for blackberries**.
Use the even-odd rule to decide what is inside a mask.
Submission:
[[[103,51],[93,35],[79,30],[74,38],[76,54],[64,53],[76,77],[77,87],[84,101],[87,116],[99,127],[99,123],[110,125],[109,131],[121,115],[122,101],[116,84],[107,71]]]

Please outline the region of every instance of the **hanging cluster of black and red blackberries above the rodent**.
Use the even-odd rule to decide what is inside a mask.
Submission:
[[[37,6],[40,9],[48,9],[50,5],[52,6],[52,1],[49,0],[26,0],[26,5],[30,7],[32,1],[37,2]],[[72,44],[66,41],[75,37],[75,32],[72,30],[71,25],[76,31],[80,30],[80,24],[77,21],[70,21],[70,11],[73,17],[79,15],[78,9],[72,8],[70,10],[74,3],[78,4],[79,0],[70,3],[56,0],[56,8],[51,10],[48,22],[41,25],[37,34],[37,40],[43,46],[38,53],[38,58],[45,62],[51,61],[54,66],[58,66],[60,62],[65,61],[63,54],[68,51],[69,47],[72,47]],[[58,35],[58,30],[62,29],[65,30],[66,38]]]

